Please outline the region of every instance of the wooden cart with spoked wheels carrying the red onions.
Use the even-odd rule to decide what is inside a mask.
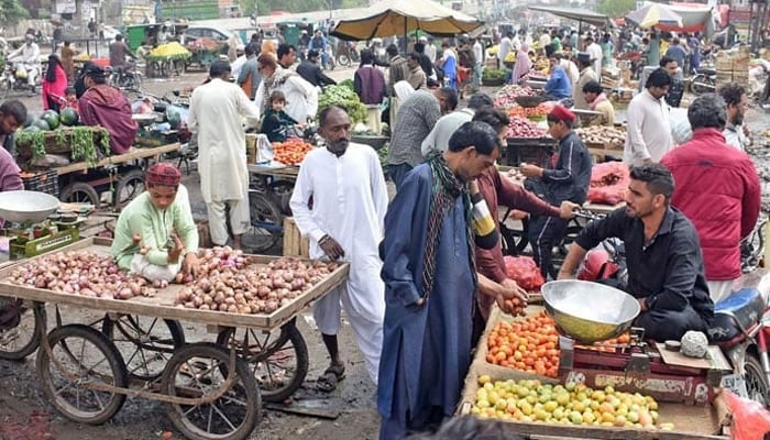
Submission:
[[[109,254],[110,241],[91,238],[61,249]],[[276,257],[250,255],[257,265]],[[14,265],[0,270],[0,279]],[[0,280],[4,301],[22,310],[16,323],[23,342],[0,358],[23,359],[40,344],[36,370],[51,404],[67,418],[102,424],[127,396],[160,400],[173,425],[189,439],[244,439],[256,428],[262,399],[283,402],[308,371],[305,340],[295,317],[343,283],[340,265],[311,289],[270,315],[241,315],[175,306],[182,285],[154,297],[90,298]],[[45,304],[75,306],[106,317],[88,326],[56,320],[46,332]],[[33,312],[25,311],[26,308]],[[186,343],[177,320],[207,324],[216,343]],[[97,328],[95,328],[97,327]],[[292,363],[294,359],[294,364]],[[273,370],[271,370],[273,367]],[[276,374],[276,369],[283,369]],[[282,376],[283,375],[283,376]]]

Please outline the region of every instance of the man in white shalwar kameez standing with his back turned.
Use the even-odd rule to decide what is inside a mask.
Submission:
[[[230,82],[230,64],[217,61],[210,81],[196,87],[190,97],[188,125],[198,132],[198,173],[206,202],[209,233],[216,245],[228,241],[226,208],[230,213],[233,248],[250,224],[246,139],[242,118],[254,122],[260,112],[240,87]]]

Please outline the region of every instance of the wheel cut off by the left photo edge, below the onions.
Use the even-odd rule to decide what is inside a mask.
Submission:
[[[45,337],[45,306],[24,307],[21,299],[0,297],[0,359],[21,361]]]

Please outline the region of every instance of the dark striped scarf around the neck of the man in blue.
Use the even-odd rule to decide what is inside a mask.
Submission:
[[[422,297],[428,300],[430,292],[433,289],[436,278],[436,253],[439,248],[439,232],[443,218],[453,206],[459,196],[463,198],[465,211],[468,254],[473,282],[476,282],[476,263],[473,252],[473,217],[471,195],[468,187],[454,173],[449,169],[443,154],[435,152],[428,157],[428,165],[433,174],[433,186],[431,188],[430,208],[428,210],[428,237],[426,238],[426,250],[422,266]]]

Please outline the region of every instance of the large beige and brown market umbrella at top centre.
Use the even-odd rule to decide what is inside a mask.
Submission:
[[[371,40],[406,35],[421,30],[437,36],[454,36],[483,22],[431,0],[385,0],[367,8],[360,19],[340,20],[331,32],[342,40]]]

